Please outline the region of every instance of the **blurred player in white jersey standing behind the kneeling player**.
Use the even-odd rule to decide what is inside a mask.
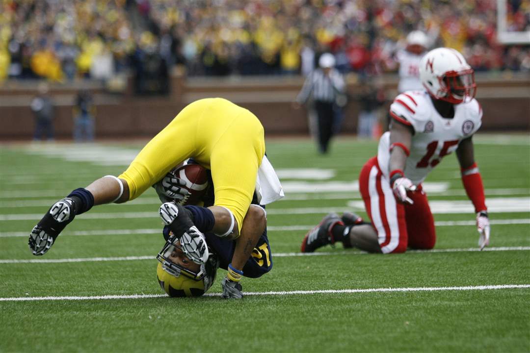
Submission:
[[[420,81],[420,60],[425,55],[429,39],[421,31],[412,31],[407,35],[407,48],[398,51],[396,58],[399,62],[398,92],[407,90],[423,90]]]

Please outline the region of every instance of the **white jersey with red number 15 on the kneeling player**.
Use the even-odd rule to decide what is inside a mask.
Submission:
[[[453,119],[445,119],[425,91],[398,95],[390,106],[390,115],[414,129],[404,173],[415,185],[423,182],[441,158],[455,151],[458,143],[474,134],[482,124],[482,108],[476,99],[455,105]],[[390,132],[385,132],[379,140],[377,162],[386,178],[390,173],[389,149]]]

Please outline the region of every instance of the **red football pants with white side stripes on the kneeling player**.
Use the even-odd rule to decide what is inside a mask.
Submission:
[[[383,254],[411,249],[432,249],[436,242],[434,219],[427,195],[419,185],[408,196],[414,204],[396,201],[390,182],[379,169],[377,157],[370,158],[359,175],[359,189],[366,212],[377,231]]]

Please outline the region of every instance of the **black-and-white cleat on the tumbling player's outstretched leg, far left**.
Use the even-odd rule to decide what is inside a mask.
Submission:
[[[54,245],[59,233],[74,220],[75,204],[70,197],[57,201],[31,230],[28,245],[33,255],[41,256]]]

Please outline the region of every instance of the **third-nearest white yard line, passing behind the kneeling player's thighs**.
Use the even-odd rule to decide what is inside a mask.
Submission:
[[[457,225],[475,225],[475,221],[437,221],[434,223],[436,227],[453,227]],[[509,220],[490,220],[490,224],[530,224],[530,219],[509,219]],[[268,232],[285,232],[285,231],[306,231],[312,229],[315,225],[269,225]],[[61,233],[64,236],[120,236],[133,234],[159,234],[162,233],[162,228],[150,229],[102,229],[102,230],[77,230],[72,232]],[[17,238],[28,237],[28,232],[1,232],[0,238]]]

